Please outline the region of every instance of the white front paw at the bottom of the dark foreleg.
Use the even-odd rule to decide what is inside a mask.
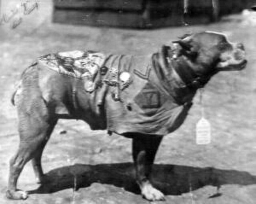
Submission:
[[[154,188],[151,184],[146,184],[142,187],[141,194],[144,198],[150,201],[165,200],[164,194]]]

